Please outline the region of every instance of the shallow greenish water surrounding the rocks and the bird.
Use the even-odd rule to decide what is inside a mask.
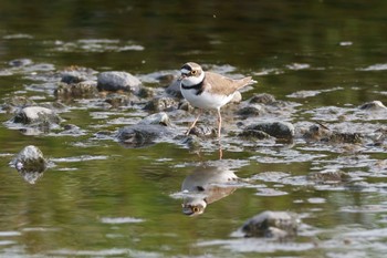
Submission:
[[[113,109],[103,99],[61,101],[65,134],[21,131],[0,111],[0,257],[383,257],[387,251],[386,111],[387,2],[372,1],[13,1],[0,2],[0,97],[55,101],[59,71],[71,65],[126,71],[146,86],[196,61],[230,76],[252,75],[242,93],[286,102],[259,117],[289,121],[292,142],[242,141],[224,109],[219,145],[201,148],[161,141],[125,148],[111,135],[149,113],[142,105]],[[25,59],[21,66],[12,60]],[[241,105],[243,105],[242,103]],[[169,114],[182,135],[194,117]],[[203,121],[215,123],[215,114]],[[308,142],[301,128],[322,123],[366,135],[359,144]],[[383,138],[385,137],[385,138]],[[379,144],[375,144],[379,138]],[[27,145],[50,167],[29,184],[9,165]],[[205,165],[205,166],[203,166]],[[181,184],[198,167],[222,167],[243,178],[205,213],[181,213]],[[343,171],[347,182],[307,175]],[[302,218],[286,242],[243,238],[238,228],[263,210]]]

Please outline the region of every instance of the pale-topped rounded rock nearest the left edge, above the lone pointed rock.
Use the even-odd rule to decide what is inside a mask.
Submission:
[[[54,111],[42,106],[28,106],[13,117],[14,123],[22,124],[59,124],[61,118]]]

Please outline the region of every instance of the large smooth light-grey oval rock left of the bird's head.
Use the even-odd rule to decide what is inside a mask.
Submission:
[[[98,74],[97,89],[100,91],[138,92],[142,82],[126,72],[103,72]]]

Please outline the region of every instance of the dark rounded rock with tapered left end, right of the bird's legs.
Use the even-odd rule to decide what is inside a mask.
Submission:
[[[263,131],[276,138],[290,140],[294,136],[294,126],[289,122],[261,122],[249,125],[247,130]]]

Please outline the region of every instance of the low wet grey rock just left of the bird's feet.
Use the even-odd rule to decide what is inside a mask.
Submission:
[[[172,136],[174,132],[159,124],[135,124],[122,127],[116,137],[126,147],[143,147],[151,145],[156,140]]]

